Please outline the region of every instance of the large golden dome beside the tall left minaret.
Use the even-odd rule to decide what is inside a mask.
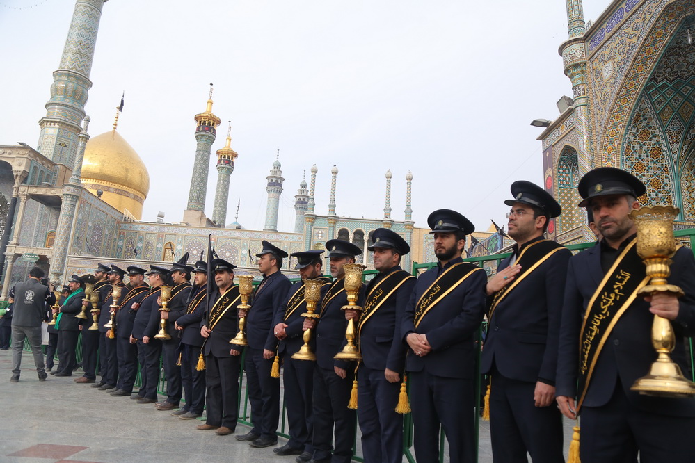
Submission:
[[[90,138],[82,161],[82,184],[121,212],[127,209],[141,220],[143,203],[150,192],[150,174],[129,143],[112,130]]]

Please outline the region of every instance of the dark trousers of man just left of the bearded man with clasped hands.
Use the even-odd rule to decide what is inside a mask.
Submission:
[[[358,420],[365,463],[403,461],[403,415],[396,413],[400,382],[388,382],[383,370],[360,365]]]

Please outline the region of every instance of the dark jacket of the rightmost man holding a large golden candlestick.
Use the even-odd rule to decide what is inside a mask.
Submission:
[[[577,394],[582,320],[586,306],[604,275],[600,243],[570,259],[560,329],[557,396],[575,397]],[[676,349],[671,353],[671,359],[689,377],[684,336],[695,335],[695,259],[692,250],[682,247],[676,252],[669,283],[680,286],[685,292],[679,300],[678,317],[671,322],[676,332]],[[695,401],[692,399],[657,398],[630,391],[634,381],[646,375],[656,359],[651,342],[653,317],[649,304],[639,296],[625,310],[598,356],[582,406],[600,407],[608,403],[616,381],[620,380],[632,407],[662,415],[695,416]]]

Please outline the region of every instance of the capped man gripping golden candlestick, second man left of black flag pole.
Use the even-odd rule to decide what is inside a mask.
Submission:
[[[183,393],[181,387],[181,366],[177,364],[180,332],[176,330],[174,324],[180,316],[186,313],[186,303],[191,293],[191,283],[189,282],[191,281],[193,267],[186,265],[187,259],[188,253],[186,252],[182,259],[173,263],[169,273],[169,277],[174,283],[171,289],[171,298],[167,304],[169,311],[158,311],[156,314],[152,312],[152,318],[157,324],[159,324],[160,320],[167,320],[166,334],[170,336],[170,339],[161,341],[162,363],[164,375],[166,376],[166,400],[155,405],[158,410],[172,410],[178,407]]]

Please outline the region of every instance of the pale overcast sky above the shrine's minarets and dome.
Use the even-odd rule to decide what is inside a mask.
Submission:
[[[607,0],[584,2],[596,19]],[[26,8],[33,7],[33,8]],[[17,9],[25,8],[25,9]],[[36,147],[73,0],[0,0],[0,144]],[[319,168],[316,212],[382,218],[385,172],[392,218],[403,220],[413,172],[413,219],[450,208],[477,229],[506,222],[509,185],[542,184],[542,129],[571,95],[559,45],[565,1],[110,0],[104,5],[86,112],[90,135],[119,133],[150,172],[143,220],[182,220],[195,156],[193,117],[223,120],[205,206],[212,216],[216,149],[232,121],[239,153],[227,223],[262,229],[266,176],[280,149],[285,191],[278,229],[294,231],[294,195]]]

